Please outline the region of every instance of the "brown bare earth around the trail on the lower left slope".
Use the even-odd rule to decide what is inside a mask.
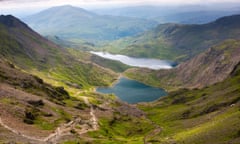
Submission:
[[[39,96],[0,84],[0,142],[2,140],[4,142],[57,143],[98,129],[95,110],[87,97],[84,97],[84,101],[89,108],[85,110],[64,107],[44,99],[44,107],[40,110],[52,115],[48,118],[50,123],[54,123],[59,118],[59,115],[52,110],[53,108],[64,109],[72,115],[69,122],[60,123],[54,130],[43,130],[35,124],[24,123],[25,110],[29,106],[28,101],[39,99]]]

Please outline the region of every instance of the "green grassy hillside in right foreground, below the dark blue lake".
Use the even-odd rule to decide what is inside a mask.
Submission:
[[[138,107],[159,125],[151,143],[212,144],[240,140],[239,64],[223,82],[203,89],[181,89]]]

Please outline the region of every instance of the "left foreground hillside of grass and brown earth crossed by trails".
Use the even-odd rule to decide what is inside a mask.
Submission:
[[[1,58],[0,143],[141,143],[153,128],[143,112],[114,96],[66,89]]]

